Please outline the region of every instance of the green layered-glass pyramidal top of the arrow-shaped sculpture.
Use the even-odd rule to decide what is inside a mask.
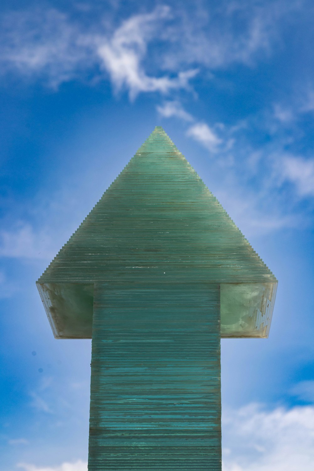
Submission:
[[[60,312],[69,290],[76,300],[72,303],[81,306],[86,296],[90,302],[97,281],[217,283],[222,290],[232,284],[233,291],[242,289],[243,299],[249,284],[257,296],[264,293],[261,302],[266,304],[272,304],[276,285],[272,272],[160,126],[37,282],[57,337],[66,337],[60,334]],[[71,315],[79,322],[79,315]]]

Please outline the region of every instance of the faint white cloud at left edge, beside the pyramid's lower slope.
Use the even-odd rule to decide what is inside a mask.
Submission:
[[[0,231],[0,257],[51,259],[56,254],[52,247],[52,239],[45,232],[36,234],[26,223]]]

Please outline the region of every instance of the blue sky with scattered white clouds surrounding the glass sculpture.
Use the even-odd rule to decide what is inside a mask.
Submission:
[[[224,471],[313,471],[314,5],[2,1],[0,455],[86,471],[90,341],[35,281],[161,125],[279,279],[268,340],[222,341]]]

